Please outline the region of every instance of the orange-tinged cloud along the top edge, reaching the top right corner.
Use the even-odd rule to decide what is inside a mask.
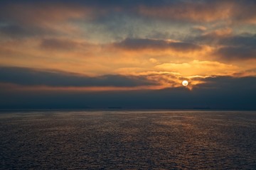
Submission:
[[[139,13],[150,18],[194,23],[228,21],[230,23],[256,23],[251,15],[256,9],[253,0],[247,1],[166,1],[159,6],[142,4]]]

